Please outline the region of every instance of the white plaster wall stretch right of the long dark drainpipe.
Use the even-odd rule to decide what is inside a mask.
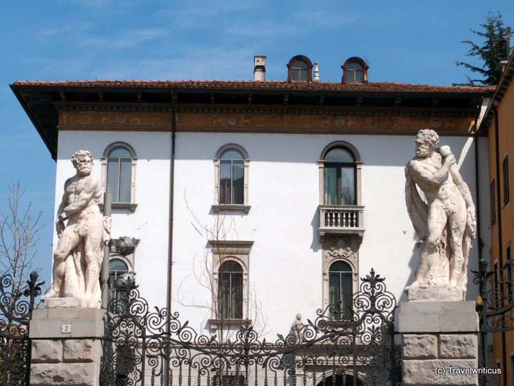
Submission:
[[[182,303],[203,308],[174,310],[197,323],[210,317],[210,293],[194,278],[204,260],[215,215],[213,158],[228,143],[242,146],[249,166],[248,215],[231,217],[233,240],[253,240],[249,280],[263,303],[267,326],[287,332],[295,313],[314,318],[322,308],[322,249],[317,240],[319,171],[317,160],[335,140],[350,142],[363,160],[362,192],[365,235],[360,246],[359,276],[373,267],[386,277],[388,289],[400,301],[414,278],[415,234],[406,212],[404,167],[414,155],[414,137],[376,135],[258,135],[179,133],[176,150],[174,294]],[[474,195],[474,149],[465,137],[442,137],[458,158],[461,173]],[[187,205],[186,205],[187,204]],[[189,206],[189,209],[187,208]],[[225,219],[227,222],[228,219]],[[197,224],[199,223],[199,224]],[[192,224],[197,224],[197,229]],[[200,234],[201,233],[201,234]],[[476,243],[471,267],[476,268]],[[470,278],[471,281],[471,278]],[[470,291],[468,299],[476,293]]]

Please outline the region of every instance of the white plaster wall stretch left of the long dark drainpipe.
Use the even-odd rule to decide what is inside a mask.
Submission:
[[[111,237],[129,236],[140,239],[135,252],[135,271],[143,296],[154,305],[166,304],[167,249],[169,224],[169,133],[121,131],[60,131],[56,173],[56,210],[63,196],[67,178],[75,174],[71,157],[79,149],[89,150],[94,157],[93,173],[101,180],[101,156],[113,142],[130,144],[136,165],[135,212],[113,208]],[[54,245],[57,237],[54,235]],[[164,287],[163,287],[164,285]]]

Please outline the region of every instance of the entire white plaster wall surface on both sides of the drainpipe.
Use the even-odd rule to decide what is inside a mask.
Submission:
[[[247,215],[224,217],[226,240],[254,241],[249,258],[251,298],[261,304],[266,333],[288,333],[297,312],[314,319],[322,303],[322,245],[318,242],[319,169],[324,147],[336,140],[353,144],[363,160],[362,203],[365,235],[360,246],[359,276],[373,267],[386,278],[388,290],[406,300],[404,287],[414,278],[415,234],[404,200],[404,167],[414,155],[414,137],[379,135],[271,135],[254,133],[177,133],[174,196],[173,311],[195,328],[210,317],[211,294],[199,281],[205,274],[208,230],[216,216],[213,158],[224,144],[235,143],[249,154]],[[56,178],[56,206],[66,178],[74,174],[69,158],[79,148],[92,151],[94,173],[113,142],[126,142],[138,156],[135,212],[113,210],[113,237],[141,240],[135,253],[136,280],[149,305],[165,305],[169,216],[169,133],[62,131]],[[482,141],[483,142],[483,141]],[[466,137],[442,137],[474,196],[474,147]],[[486,149],[486,142],[481,143]],[[487,153],[480,154],[481,169]],[[485,169],[487,176],[487,169]],[[487,184],[486,184],[487,185]],[[487,202],[488,188],[481,192]],[[488,239],[488,205],[482,205],[482,237]],[[54,239],[56,242],[56,239]],[[486,242],[484,252],[490,242]],[[486,249],[487,248],[487,249]],[[207,260],[205,260],[207,258]],[[476,242],[470,267],[476,269]],[[208,269],[208,268],[207,268]],[[196,276],[196,277],[195,277]],[[472,278],[470,276],[470,283]],[[472,287],[472,285],[468,285]],[[468,291],[468,299],[476,292]],[[190,305],[190,306],[188,306]],[[255,319],[255,314],[250,312]]]

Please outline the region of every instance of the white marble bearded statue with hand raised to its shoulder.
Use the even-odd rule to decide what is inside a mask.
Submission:
[[[417,288],[456,288],[463,296],[466,292],[475,208],[454,154],[449,146],[437,149],[438,142],[435,131],[420,130],[416,156],[405,169],[408,215],[422,241],[416,280],[406,287],[409,296]]]

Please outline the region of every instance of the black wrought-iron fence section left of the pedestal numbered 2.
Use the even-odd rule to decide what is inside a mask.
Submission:
[[[28,323],[35,298],[41,294],[38,273],[33,272],[22,290],[9,274],[0,276],[0,379],[3,386],[29,385],[31,339]]]

